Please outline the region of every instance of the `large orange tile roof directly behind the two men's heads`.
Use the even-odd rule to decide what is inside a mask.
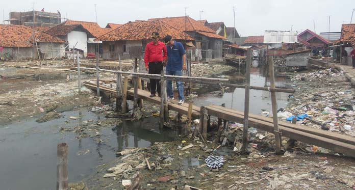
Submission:
[[[128,22],[117,29],[104,34],[95,41],[119,41],[119,40],[149,40],[152,32],[159,32],[161,38],[171,35],[177,40],[194,40],[190,35],[174,28],[162,20]]]

